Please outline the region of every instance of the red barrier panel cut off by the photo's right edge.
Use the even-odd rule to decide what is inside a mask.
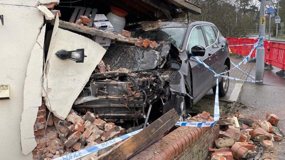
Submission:
[[[269,43],[268,63],[285,70],[285,43]]]

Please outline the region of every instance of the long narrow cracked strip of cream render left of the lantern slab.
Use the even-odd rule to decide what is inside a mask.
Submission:
[[[43,47],[46,26],[42,27],[34,48],[32,49],[24,84],[24,103],[21,116],[21,145],[22,153],[27,155],[37,146],[34,137],[34,123],[37,118],[38,108],[41,106],[43,68]]]

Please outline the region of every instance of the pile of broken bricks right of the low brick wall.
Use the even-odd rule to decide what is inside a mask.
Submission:
[[[265,152],[273,153],[272,142],[281,140],[284,134],[276,127],[279,121],[276,115],[268,113],[266,119],[265,121],[238,119],[234,116],[220,119],[220,134],[215,140],[217,148],[209,148],[212,152],[211,159],[231,160],[260,157],[263,148],[267,150]]]

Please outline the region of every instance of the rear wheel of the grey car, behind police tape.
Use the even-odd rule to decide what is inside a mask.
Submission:
[[[227,65],[224,65],[223,72],[226,72],[228,70],[229,70],[229,68],[227,67]],[[230,76],[229,72],[224,73],[223,75]],[[222,80],[218,85],[220,97],[223,97],[227,94],[227,91],[229,90],[229,84],[230,84],[230,80],[228,78],[222,77]],[[214,94],[216,93],[216,86],[213,87],[213,92],[214,92]]]

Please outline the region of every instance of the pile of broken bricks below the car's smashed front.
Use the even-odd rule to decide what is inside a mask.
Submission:
[[[106,123],[91,112],[78,115],[71,110],[65,120],[60,120],[50,115],[47,121],[47,129],[44,137],[37,136],[36,149],[43,148],[34,159],[44,158],[49,160],[57,158],[87,147],[91,147],[125,134],[125,129],[115,126],[114,123]],[[45,143],[43,143],[45,141]],[[120,142],[116,143],[118,145]],[[97,154],[93,153],[92,157]],[[89,157],[90,158],[90,157]]]

